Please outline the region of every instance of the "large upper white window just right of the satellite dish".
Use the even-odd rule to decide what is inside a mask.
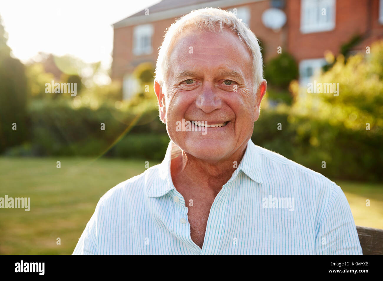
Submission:
[[[326,8],[326,16],[322,16]],[[330,31],[335,28],[336,0],[301,0],[301,32]]]

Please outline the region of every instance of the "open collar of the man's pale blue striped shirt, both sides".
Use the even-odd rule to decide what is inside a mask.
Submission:
[[[172,159],[177,157],[180,153],[182,153],[181,149],[170,140],[164,160],[157,165],[157,169],[150,169],[145,175],[145,183],[148,187],[148,197],[161,197],[170,190],[175,189],[170,174],[170,164]],[[237,170],[233,173],[233,176],[236,177],[239,171],[244,172],[255,182],[262,184],[261,158],[257,146],[254,145],[251,138],[247,142],[244,156],[242,157]]]

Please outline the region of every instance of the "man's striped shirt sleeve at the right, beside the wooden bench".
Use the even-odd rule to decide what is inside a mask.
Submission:
[[[316,236],[318,255],[362,255],[350,205],[342,189],[334,184]]]

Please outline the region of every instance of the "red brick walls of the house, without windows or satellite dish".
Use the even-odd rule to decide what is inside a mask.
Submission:
[[[301,0],[286,1],[287,23],[282,31],[274,32],[262,23],[264,10],[270,7],[269,1],[259,1],[245,5],[223,7],[231,10],[249,6],[250,29],[264,43],[267,61],[277,55],[277,47],[287,49],[299,62],[306,58],[323,57],[326,50],[339,53],[340,45],[348,42],[356,33],[368,35],[354,49],[362,50],[373,41],[383,39],[383,25],[378,22],[379,0],[336,0],[335,29],[325,32],[302,34],[300,31]],[[181,15],[180,15],[181,16]],[[140,62],[150,61],[155,65],[158,47],[162,44],[165,29],[175,21],[164,19],[152,22],[154,26],[153,52],[150,55],[135,56],[133,48],[133,28],[127,26],[114,30],[112,78],[121,80],[125,73],[131,73]]]

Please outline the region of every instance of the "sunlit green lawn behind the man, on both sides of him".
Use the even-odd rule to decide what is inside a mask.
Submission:
[[[56,161],[61,161],[61,169]],[[0,197],[31,197],[30,211],[0,209],[0,254],[72,253],[100,197],[143,172],[145,161],[0,158]],[[336,182],[349,200],[355,223],[383,229],[383,184]]]

